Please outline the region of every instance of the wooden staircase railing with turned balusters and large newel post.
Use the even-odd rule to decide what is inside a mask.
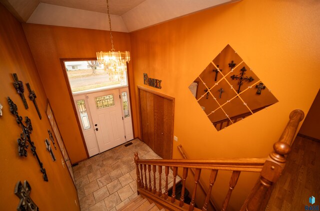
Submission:
[[[210,169],[210,177],[208,181],[208,189],[204,199],[202,211],[208,209],[212,186],[214,185],[219,170],[232,171],[229,180],[229,190],[221,206],[221,211],[227,209],[232,190],[236,186],[241,172],[260,172],[259,183],[251,190],[248,198],[244,202],[242,211],[258,211],[261,202],[265,197],[267,190],[275,183],[285,164],[285,156],[290,152],[290,145],[296,133],[298,123],[303,119],[304,114],[300,110],[294,110],[290,113],[290,120],[285,127],[280,139],[273,145],[274,151],[265,158],[238,158],[238,159],[214,159],[214,160],[140,160],[138,154],[134,154],[134,162],[136,165],[136,183],[138,194],[141,194],[155,203],[160,204],[168,210],[193,211],[199,210],[194,208],[196,198],[196,187],[202,169]],[[151,168],[152,167],[152,168]],[[162,193],[162,168],[164,169],[164,193]],[[168,177],[170,168],[173,169],[173,188],[172,196],[168,196]],[[175,179],[177,177],[178,168],[182,170],[182,190],[180,199],[175,199]],[[191,192],[191,203],[184,203],[185,181],[189,169],[195,169],[194,187]],[[151,172],[152,169],[152,172]],[[158,178],[157,178],[158,175]],[[158,183],[156,183],[158,181]],[[152,184],[153,183],[153,184]]]

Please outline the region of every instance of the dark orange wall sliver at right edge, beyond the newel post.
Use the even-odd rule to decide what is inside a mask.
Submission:
[[[320,140],[320,90],[299,130],[300,134]]]

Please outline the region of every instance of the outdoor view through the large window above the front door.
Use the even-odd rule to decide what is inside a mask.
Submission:
[[[64,65],[72,94],[127,85],[126,65],[122,63],[122,71],[99,64],[97,60],[64,61]]]

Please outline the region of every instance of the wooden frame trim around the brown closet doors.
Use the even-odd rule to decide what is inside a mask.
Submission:
[[[145,88],[143,86],[139,86],[137,85],[137,88],[138,88],[138,106],[139,106],[139,121],[140,121],[140,134],[141,134],[141,140],[143,141],[143,135],[142,135],[142,119],[141,119],[141,105],[140,105],[140,90],[143,90],[143,91],[146,91],[146,92],[149,92],[149,93],[152,93],[152,94],[155,94],[155,95],[158,95],[160,97],[163,97],[163,98],[166,98],[168,100],[171,100],[172,101],[172,120],[173,120],[173,123],[172,123],[172,141],[173,141],[173,134],[174,134],[174,97],[171,97],[169,95],[165,95],[165,94],[162,94],[162,93],[159,93],[157,91],[154,91],[152,89],[148,89],[148,88]],[[144,141],[143,141],[144,142]],[[172,151],[171,151],[171,158],[173,156],[173,143],[172,143]]]

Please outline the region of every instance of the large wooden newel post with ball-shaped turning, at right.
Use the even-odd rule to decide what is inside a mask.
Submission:
[[[267,190],[279,179],[282,170],[284,169],[286,155],[291,151],[291,143],[293,141],[298,124],[303,118],[304,113],[301,110],[294,110],[290,113],[290,120],[283,130],[279,141],[274,143],[274,151],[271,152],[266,159],[260,173],[259,182],[252,189],[248,197],[245,211],[260,210]]]

